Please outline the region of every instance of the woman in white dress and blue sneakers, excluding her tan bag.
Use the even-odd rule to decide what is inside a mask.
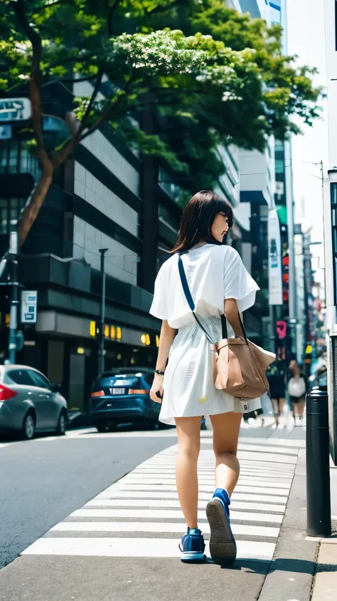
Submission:
[[[187,524],[179,546],[186,563],[205,560],[205,543],[198,528],[201,418],[210,416],[215,453],[215,493],[206,508],[210,555],[215,563],[232,565],[236,545],[229,505],[240,472],[240,423],[244,411],[261,406],[260,399],[247,403],[215,389],[210,342],[193,317],[180,276],[183,267],[195,314],[214,342],[222,337],[223,314],[229,324],[228,337],[233,336],[232,331],[242,336],[238,311],[252,307],[259,288],[237,252],[223,245],[232,220],[230,205],[213,192],[202,190],[193,196],[183,211],[173,255],[156,278],[150,310],[163,321],[151,399],[161,402],[162,422],[176,423],[176,486]]]

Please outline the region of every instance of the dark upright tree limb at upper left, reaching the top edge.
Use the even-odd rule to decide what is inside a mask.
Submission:
[[[42,135],[42,111],[41,111],[41,56],[42,56],[42,41],[41,36],[33,29],[29,23],[26,14],[26,6],[24,0],[16,0],[14,3],[14,12],[18,24],[23,29],[23,32],[28,37],[33,48],[33,58],[31,66],[31,80],[29,83],[29,96],[31,98],[31,111],[33,130],[38,144],[38,150],[45,152]]]

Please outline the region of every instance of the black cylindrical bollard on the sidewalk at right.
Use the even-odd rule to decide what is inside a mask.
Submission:
[[[306,396],[306,532],[331,536],[328,393]]]

